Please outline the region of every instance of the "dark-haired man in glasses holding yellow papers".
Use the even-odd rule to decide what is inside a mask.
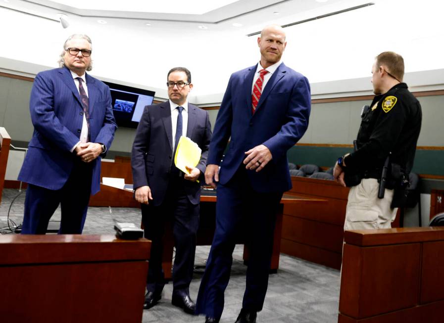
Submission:
[[[162,236],[165,222],[172,225],[176,254],[171,303],[194,314],[189,286],[193,277],[196,232],[199,224],[200,184],[211,139],[208,112],[188,102],[193,89],[191,73],[184,67],[168,72],[169,100],[145,107],[131,153],[135,198],[141,203],[145,237],[152,241],[144,308],[161,298]],[[184,174],[174,164],[177,143],[185,136],[202,149],[197,167]]]

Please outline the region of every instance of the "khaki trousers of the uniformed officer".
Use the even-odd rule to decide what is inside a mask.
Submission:
[[[345,211],[344,230],[390,229],[395,221],[397,208],[390,207],[393,189],[378,198],[379,183],[376,179],[363,179],[350,188]]]

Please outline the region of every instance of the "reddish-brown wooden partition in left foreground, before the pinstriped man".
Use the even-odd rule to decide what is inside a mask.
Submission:
[[[150,246],[113,235],[1,235],[1,322],[142,322]]]

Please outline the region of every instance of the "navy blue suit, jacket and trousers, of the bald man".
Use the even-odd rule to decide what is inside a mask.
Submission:
[[[303,136],[310,114],[310,86],[301,74],[279,65],[251,114],[256,67],[232,74],[217,115],[208,164],[220,165],[216,231],[197,297],[197,314],[220,318],[230,277],[236,235],[249,248],[243,308],[260,311],[268,284],[275,214],[289,190],[287,151]],[[221,162],[228,139],[229,147]],[[260,171],[246,170],[245,152],[263,144],[272,160]],[[247,230],[240,232],[241,223]]]

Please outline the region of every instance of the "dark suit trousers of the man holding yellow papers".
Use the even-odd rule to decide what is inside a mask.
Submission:
[[[165,285],[162,270],[163,234],[165,222],[171,221],[176,255],[173,265],[173,292],[188,292],[193,278],[196,253],[196,233],[199,226],[199,204],[190,202],[183,178],[173,178],[168,184],[165,199],[159,206],[142,205],[145,237],[151,240],[147,290],[160,294]]]

